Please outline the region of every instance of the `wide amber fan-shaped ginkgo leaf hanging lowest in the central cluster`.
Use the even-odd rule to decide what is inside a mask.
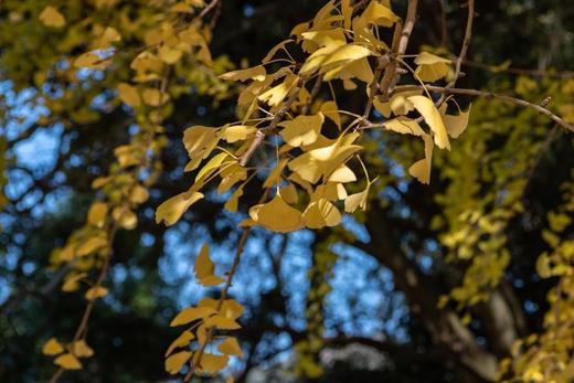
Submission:
[[[302,227],[301,212],[285,203],[279,194],[267,203],[251,208],[249,216],[257,225],[273,232],[289,233]]]

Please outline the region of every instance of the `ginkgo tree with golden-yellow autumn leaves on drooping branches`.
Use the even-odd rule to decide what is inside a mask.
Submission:
[[[181,143],[189,156],[183,170],[193,180],[189,185],[180,182],[180,192],[157,206],[156,224],[176,225],[210,194],[219,194],[225,199],[221,210],[241,216],[241,235],[225,272],[217,272],[209,244],[196,256],[195,279],[215,288],[219,296],[183,308],[170,323],[181,332],[166,341],[164,369],[181,374],[183,381],[222,371],[227,376],[232,358],[244,357],[240,342],[244,306],[230,297],[230,288],[252,233],[264,230],[287,235],[323,228],[338,233],[346,214],[361,220],[380,209],[376,195],[390,181],[373,172],[373,157],[386,152],[379,146],[386,137],[404,140],[411,149],[406,156],[385,156],[396,159],[416,182],[432,188],[451,177],[449,156],[459,156],[459,140],[464,140],[460,150],[468,150],[468,146],[481,148],[487,139],[476,132],[465,139],[476,107],[471,105],[485,103],[480,98],[524,108],[556,128],[574,130],[570,117],[529,99],[528,92],[514,97],[457,87],[472,41],[474,0],[465,4],[465,32],[455,54],[429,47],[410,53],[415,51],[410,45],[413,31],[424,18],[417,0],[407,1],[404,14],[385,0],[331,0],[312,20],[294,25],[287,40],[270,47],[259,63],[242,68],[210,52],[212,30],[223,12],[221,0],[24,3],[7,1],[1,7],[9,12],[10,22],[42,29],[57,49],[56,54],[42,52],[45,56],[39,58],[33,73],[38,86],[33,103],[50,110],[40,117],[41,124],[88,124],[98,118],[94,108],[120,106],[129,114],[132,129],[129,141],[114,149],[115,161],[107,174],[92,181],[96,199],[85,224],[50,256],[51,267],[64,270],[61,289],[79,291],[85,298],[76,330],[54,333],[43,345],[42,352],[56,365],[51,382],[68,370],[83,369],[84,361],[98,352],[88,345],[87,329],[95,304],[109,294],[105,280],[114,241],[118,232],[138,226],[138,210],[170,171],[162,162],[170,140],[164,125],[182,107],[178,100],[184,96],[201,93],[219,100],[233,98],[235,117],[221,126],[193,125],[183,131]],[[55,79],[64,83],[57,92],[45,86]],[[477,100],[459,100],[469,96]],[[347,108],[342,107],[348,104],[344,98],[364,103]],[[433,171],[434,158],[438,158],[439,171]],[[523,182],[510,183],[517,174],[481,202],[475,202],[478,193],[472,188],[464,192],[449,189],[437,199],[447,211],[447,222],[435,222],[435,226],[448,227],[438,241],[451,252],[444,262],[470,263],[459,286],[438,302],[427,302],[436,310],[435,317],[445,310],[445,318],[450,318],[445,322],[455,323],[448,326],[468,325],[474,307],[487,301],[491,289],[501,284],[509,256],[500,231],[523,210],[520,195],[527,188]],[[472,182],[478,181],[468,184]],[[555,311],[549,311],[540,336],[514,343],[511,358],[497,368],[501,379],[559,382],[573,375],[573,345],[566,342],[556,350],[551,341],[573,330],[567,292],[573,245],[561,237],[571,223],[571,182],[564,182],[563,189],[564,204],[550,213],[550,228],[543,235],[551,252],[536,263],[541,277],[560,278],[549,296]],[[255,195],[249,194],[254,191]],[[450,206],[456,196],[448,194],[457,193],[469,193],[469,201]],[[371,209],[373,203],[376,208]],[[488,203],[498,203],[497,209],[490,211]],[[325,262],[321,267],[328,269],[329,265]],[[417,277],[410,273],[405,280],[413,286],[406,288],[414,288]],[[447,311],[453,304],[456,310]],[[457,331],[463,333],[460,338],[467,337],[468,330]],[[482,357],[478,347],[476,350]],[[305,354],[305,345],[300,352]],[[551,366],[543,362],[548,359],[553,360]],[[475,368],[472,361],[465,363]],[[493,379],[489,363],[485,372],[477,372],[485,380]],[[313,369],[311,363],[302,371],[320,374]],[[228,380],[233,381],[232,375]]]

